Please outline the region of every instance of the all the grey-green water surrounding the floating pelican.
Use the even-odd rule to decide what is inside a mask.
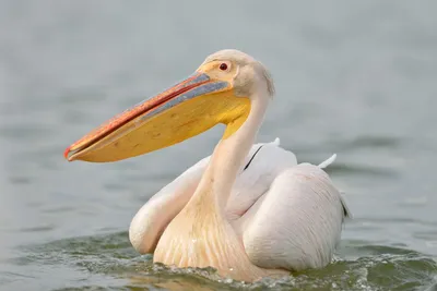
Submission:
[[[1,290],[436,290],[437,17],[434,1],[2,1]],[[321,270],[245,286],[152,264],[135,211],[210,155],[222,128],[117,163],[63,149],[115,113],[238,48],[277,95],[276,136],[329,169],[355,219]]]

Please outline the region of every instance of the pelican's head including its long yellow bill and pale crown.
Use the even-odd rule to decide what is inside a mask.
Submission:
[[[264,94],[253,94],[260,90]],[[64,156],[70,161],[121,160],[180,143],[217,123],[227,125],[226,138],[244,123],[255,98],[268,98],[273,92],[260,62],[238,50],[221,50],[188,78],[69,146]]]

